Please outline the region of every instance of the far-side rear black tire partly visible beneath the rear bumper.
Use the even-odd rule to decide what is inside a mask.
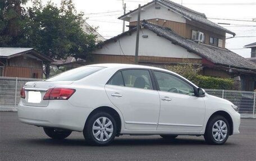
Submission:
[[[62,140],[66,137],[70,136],[70,130],[56,130],[55,128],[44,127],[44,132],[47,136],[51,137],[52,139]]]

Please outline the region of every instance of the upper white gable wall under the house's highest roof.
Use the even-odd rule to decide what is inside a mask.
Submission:
[[[160,7],[160,9],[156,9]],[[131,13],[130,22],[138,20],[138,13]],[[186,23],[184,17],[175,13],[173,11],[168,11],[168,8],[162,6],[161,4],[151,4],[150,6],[144,7],[143,11],[140,12],[140,20],[150,20],[150,19],[163,19],[175,22]]]

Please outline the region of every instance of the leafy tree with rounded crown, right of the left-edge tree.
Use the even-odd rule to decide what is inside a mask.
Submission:
[[[95,48],[96,35],[84,33],[83,16],[76,12],[72,0],[62,0],[60,8],[51,2],[43,6],[42,1],[33,1],[27,12],[28,44],[53,59],[86,58]],[[48,76],[46,64],[45,77]]]

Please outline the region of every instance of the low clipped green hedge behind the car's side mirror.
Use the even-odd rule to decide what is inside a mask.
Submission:
[[[190,81],[204,89],[234,89],[234,80],[232,79],[221,79],[211,76],[196,75]]]

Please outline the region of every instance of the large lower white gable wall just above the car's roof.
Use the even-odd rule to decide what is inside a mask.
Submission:
[[[142,38],[142,35],[148,35],[148,38]],[[125,35],[121,38],[117,38],[117,42],[109,42],[103,45],[102,49],[97,49],[94,53],[121,56],[125,54],[126,56],[134,56],[135,42],[136,32],[133,32],[132,35]],[[172,44],[169,40],[162,38],[161,36],[157,36],[156,33],[147,29],[141,29],[140,31],[139,56],[202,58],[195,53],[188,52],[187,49],[180,45]]]

